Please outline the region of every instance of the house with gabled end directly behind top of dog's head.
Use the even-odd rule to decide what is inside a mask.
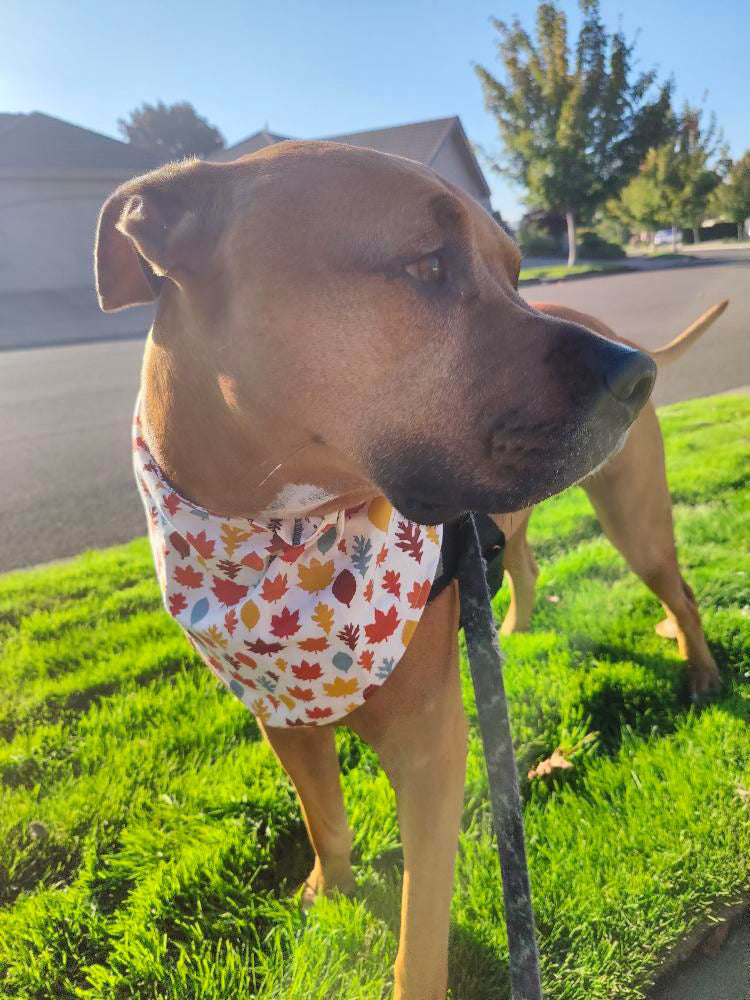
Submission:
[[[255,153],[259,149],[289,138],[291,137],[263,129],[235,143],[234,146],[213,153],[210,158],[221,161],[236,160],[238,156]],[[489,186],[477,163],[471,143],[466,138],[461,119],[457,116],[414,122],[411,125],[392,125],[389,128],[371,129],[366,132],[327,135],[321,138],[330,142],[343,142],[350,146],[366,146],[381,153],[393,153],[424,163],[456,187],[470,194],[488,212],[492,211]]]

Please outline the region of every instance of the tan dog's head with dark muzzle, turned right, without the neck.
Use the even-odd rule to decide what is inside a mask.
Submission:
[[[164,337],[174,366],[218,386],[248,440],[279,461],[309,442],[306,478],[290,459],[274,489],[373,487],[424,523],[576,482],[653,387],[645,354],[521,299],[518,249],[481,206],[372,150],[162,168],[106,203],[96,263],[105,310],[159,298],[154,336],[185,329]]]

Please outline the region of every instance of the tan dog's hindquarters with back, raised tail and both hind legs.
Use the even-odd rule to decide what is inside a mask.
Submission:
[[[724,301],[712,306],[666,347],[650,352],[651,358],[659,366],[677,360],[728,304]],[[534,303],[534,308],[549,316],[580,323],[611,340],[630,343],[593,316],[575,309],[541,303]],[[580,485],[607,537],[664,606],[667,618],[656,626],[656,631],[677,640],[680,655],[687,664],[692,696],[697,698],[717,689],[719,671],[706,645],[695,597],[677,562],[664,443],[650,401],[630,428],[623,448]],[[526,537],[531,514],[532,510],[527,509],[496,518],[506,535],[505,569],[511,593],[501,630],[504,635],[523,631],[531,622],[539,572]]]

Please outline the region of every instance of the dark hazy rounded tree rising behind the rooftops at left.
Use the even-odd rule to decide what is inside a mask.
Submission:
[[[221,132],[187,101],[144,104],[131,111],[127,119],[118,119],[117,125],[133,146],[148,149],[164,160],[206,156],[224,147]]]

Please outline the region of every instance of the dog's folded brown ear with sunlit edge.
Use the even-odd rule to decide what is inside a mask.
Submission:
[[[198,272],[215,243],[219,164],[170,164],[119,187],[99,214],[94,269],[105,312],[153,302]]]

